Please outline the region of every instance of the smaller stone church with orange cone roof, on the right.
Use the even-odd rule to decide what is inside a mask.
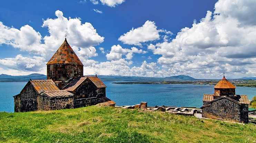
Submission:
[[[214,86],[214,94],[204,94],[202,117],[248,123],[247,95],[236,95],[235,86],[225,75]]]

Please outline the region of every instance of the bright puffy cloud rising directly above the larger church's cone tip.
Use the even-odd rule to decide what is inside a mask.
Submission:
[[[55,15],[57,19],[44,20],[42,25],[42,27],[48,27],[50,33],[50,36],[43,38],[49,48],[58,47],[63,42],[61,37],[65,34],[70,41],[69,44],[76,47],[88,48],[104,41],[104,37],[98,35],[91,23],[82,24],[80,18],[67,19],[59,10],[55,12]]]

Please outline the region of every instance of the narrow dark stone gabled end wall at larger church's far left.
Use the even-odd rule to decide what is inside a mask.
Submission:
[[[36,111],[37,110],[37,97],[39,94],[35,88],[29,85],[22,91],[20,95],[20,112]]]

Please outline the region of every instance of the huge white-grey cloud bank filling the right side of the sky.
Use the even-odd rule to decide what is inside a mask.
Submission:
[[[198,78],[232,73],[233,77],[256,74],[256,1],[219,0],[215,11],[183,28],[170,42],[150,44],[166,71]]]

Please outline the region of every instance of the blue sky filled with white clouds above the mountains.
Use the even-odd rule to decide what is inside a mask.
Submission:
[[[84,74],[256,75],[256,1],[3,0],[0,74],[46,74],[67,34]]]

